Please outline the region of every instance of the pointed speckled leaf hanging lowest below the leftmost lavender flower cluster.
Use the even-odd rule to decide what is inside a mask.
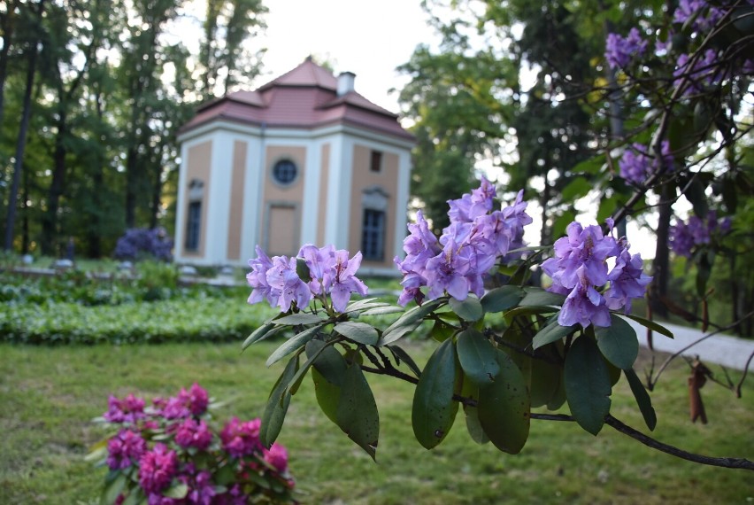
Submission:
[[[375,459],[380,437],[380,415],[372,389],[356,363],[348,367],[343,377],[336,420],[349,439]]]

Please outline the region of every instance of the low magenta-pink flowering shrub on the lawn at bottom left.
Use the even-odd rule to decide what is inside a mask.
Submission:
[[[176,396],[145,401],[111,396],[98,421],[113,434],[89,459],[110,470],[104,503],[241,505],[292,503],[288,453],[265,447],[261,421],[232,418],[219,428],[210,399],[199,385]]]

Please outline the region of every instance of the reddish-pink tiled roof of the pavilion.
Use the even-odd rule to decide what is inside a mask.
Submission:
[[[337,78],[311,58],[255,91],[237,91],[198,109],[181,132],[212,120],[264,124],[267,128],[318,128],[350,124],[413,140],[398,116],[356,91],[337,96]]]

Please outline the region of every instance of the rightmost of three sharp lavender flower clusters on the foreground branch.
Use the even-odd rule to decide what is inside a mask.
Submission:
[[[555,256],[542,263],[542,270],[552,278],[549,290],[567,295],[558,315],[562,326],[610,326],[609,310],[625,307],[628,313],[631,299],[642,298],[651,281],[642,272],[642,257],[628,253],[625,240],[605,236],[598,226],[573,221],[554,248]],[[615,258],[610,270],[609,258]],[[604,292],[597,291],[608,282]]]

